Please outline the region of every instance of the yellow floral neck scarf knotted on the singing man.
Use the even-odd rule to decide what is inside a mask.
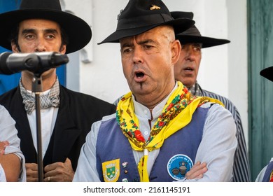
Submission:
[[[134,151],[144,151],[138,169],[141,182],[148,182],[147,160],[148,152],[160,148],[165,139],[186,127],[190,123],[193,113],[197,107],[207,102],[222,104],[217,99],[210,97],[195,97],[188,92],[188,89],[181,82],[169,97],[161,115],[151,130],[146,141],[139,130],[139,120],[134,113],[132,92],[118,102],[116,118],[123,134],[128,138]]]

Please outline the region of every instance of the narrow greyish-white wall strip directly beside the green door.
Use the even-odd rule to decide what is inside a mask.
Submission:
[[[228,8],[228,97],[241,114],[248,141],[248,54],[246,0],[226,0]]]

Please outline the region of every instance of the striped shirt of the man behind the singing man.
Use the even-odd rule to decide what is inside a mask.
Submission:
[[[214,92],[202,90],[198,83],[195,83],[193,87],[190,87],[190,92],[197,96],[211,97],[220,100],[225,108],[232,113],[237,127],[236,137],[238,141],[237,150],[235,151],[235,160],[233,165],[233,181],[235,182],[248,182],[251,181],[251,174],[249,169],[248,151],[246,148],[246,141],[244,138],[244,130],[241,125],[241,117],[236,106],[230,102],[228,98],[218,95]]]

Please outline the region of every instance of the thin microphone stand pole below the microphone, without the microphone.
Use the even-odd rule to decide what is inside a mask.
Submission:
[[[36,109],[36,131],[37,131],[37,163],[38,163],[38,181],[43,182],[43,153],[41,137],[41,102],[40,94],[43,92],[42,73],[34,73],[32,79],[32,92],[35,93]]]

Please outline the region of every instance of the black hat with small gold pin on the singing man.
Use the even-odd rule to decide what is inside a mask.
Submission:
[[[174,20],[161,0],[130,0],[127,6],[120,10],[116,31],[101,43],[118,43],[121,38],[136,36],[160,25],[172,25],[178,34],[194,23],[188,18]]]

